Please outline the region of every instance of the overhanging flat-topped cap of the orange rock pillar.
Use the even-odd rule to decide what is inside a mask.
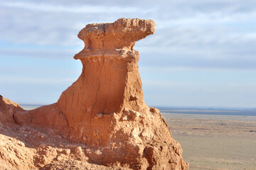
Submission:
[[[85,51],[133,50],[135,42],[154,33],[154,27],[152,20],[120,18],[114,23],[88,24],[78,38],[85,42]]]

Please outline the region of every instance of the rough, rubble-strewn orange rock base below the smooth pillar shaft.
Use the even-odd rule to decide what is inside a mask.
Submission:
[[[116,133],[107,147],[70,142],[70,136],[56,128],[15,124],[10,115],[17,109],[21,111],[20,106],[1,108],[2,120],[10,118],[0,122],[0,167],[4,169],[188,168],[181,157],[180,145],[173,138],[169,140],[169,128],[156,108],[149,108],[148,115],[127,108],[120,115],[114,113]],[[111,115],[99,115],[99,118],[104,116]],[[145,123],[145,120],[150,121]],[[159,125],[156,120],[159,120]],[[167,128],[160,128],[161,123]],[[164,133],[166,136],[161,135]]]

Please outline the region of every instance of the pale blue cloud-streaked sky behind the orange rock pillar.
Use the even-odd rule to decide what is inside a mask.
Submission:
[[[0,94],[55,103],[78,79],[87,23],[152,19],[134,46],[149,106],[256,108],[256,1],[0,1]]]

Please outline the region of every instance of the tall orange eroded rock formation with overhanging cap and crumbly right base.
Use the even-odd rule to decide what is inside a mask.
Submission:
[[[20,125],[57,128],[90,149],[97,164],[131,169],[188,169],[158,109],[144,103],[137,40],[154,33],[154,21],[119,19],[88,24],[78,37],[85,48],[75,55],[82,74],[57,103],[16,111]]]

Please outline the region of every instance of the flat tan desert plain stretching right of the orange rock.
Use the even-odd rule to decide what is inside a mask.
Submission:
[[[191,170],[256,169],[256,116],[162,115]]]

